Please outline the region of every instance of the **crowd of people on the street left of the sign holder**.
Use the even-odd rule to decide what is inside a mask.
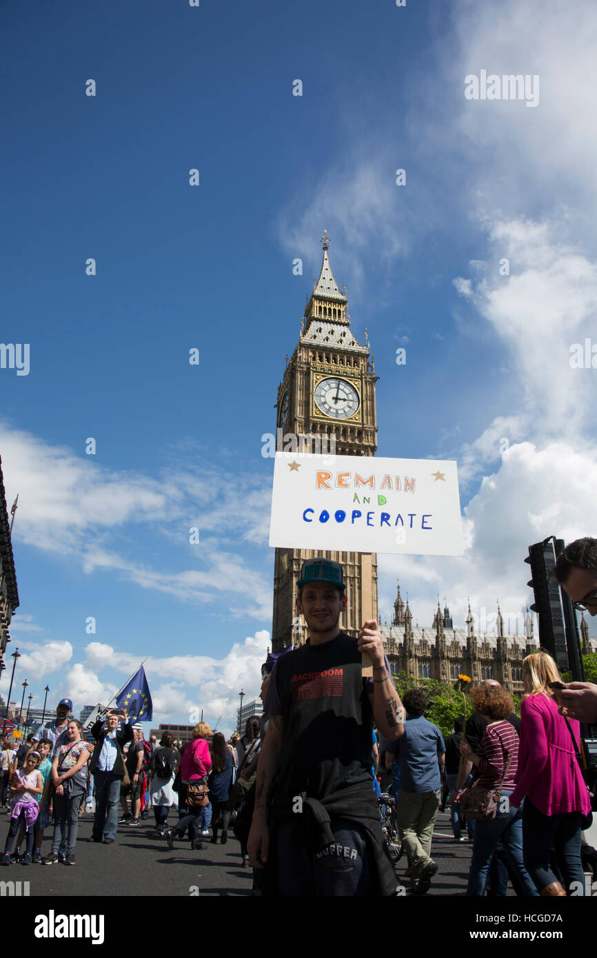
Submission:
[[[230,741],[201,721],[191,741],[174,741],[166,734],[158,744],[155,736],[144,741],[142,725],[131,725],[117,709],[96,722],[86,741],[79,719],[69,718],[71,710],[70,699],[62,699],[56,718],[21,746],[2,743],[0,807],[10,810],[11,824],[0,864],[75,865],[80,815],[93,810],[93,799],[91,842],[113,843],[119,825],[134,828],[152,810],[155,835],[171,848],[188,829],[191,848],[203,850],[210,826],[211,841],[226,844],[231,815],[254,779],[259,717],[247,719],[244,735],[235,734]],[[231,792],[237,778],[245,787],[235,799]],[[49,827],[52,846],[42,857]],[[246,850],[241,862],[248,866]]]

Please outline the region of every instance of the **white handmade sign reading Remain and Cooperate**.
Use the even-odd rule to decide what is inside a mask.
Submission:
[[[277,452],[269,545],[460,556],[456,463]]]

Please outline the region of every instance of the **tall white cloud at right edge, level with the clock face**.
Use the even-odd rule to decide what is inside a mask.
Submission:
[[[511,260],[511,275],[494,274],[458,291],[493,326],[512,357],[517,392],[543,436],[582,433],[594,425],[593,370],[570,367],[570,345],[594,329],[597,265],[559,239],[555,223],[496,223],[490,244]]]

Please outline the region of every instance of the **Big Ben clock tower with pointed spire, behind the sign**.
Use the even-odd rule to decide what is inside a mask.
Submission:
[[[319,437],[322,451],[337,455],[374,456],[377,443],[377,376],[369,344],[361,346],[351,331],[346,292],[333,278],[330,241],[323,237],[323,262],[301,324],[301,336],[278,387],[277,422],[281,436]],[[335,450],[331,448],[334,437]],[[328,444],[328,445],[326,445]],[[279,445],[282,449],[282,445]],[[295,609],[296,582],[305,559],[321,555],[312,549],[276,549],[274,561],[274,651],[301,644],[304,622]],[[364,619],[378,614],[378,558],[375,553],[326,552],[344,571],[348,605],[340,627],[349,635]]]

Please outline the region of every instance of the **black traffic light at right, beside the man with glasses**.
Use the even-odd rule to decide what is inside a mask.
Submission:
[[[568,669],[568,652],[563,627],[562,600],[558,582],[550,577],[556,564],[553,536],[529,546],[532,579],[527,582],[535,595],[531,605],[539,618],[539,641],[541,649],[552,655],[561,672]]]

